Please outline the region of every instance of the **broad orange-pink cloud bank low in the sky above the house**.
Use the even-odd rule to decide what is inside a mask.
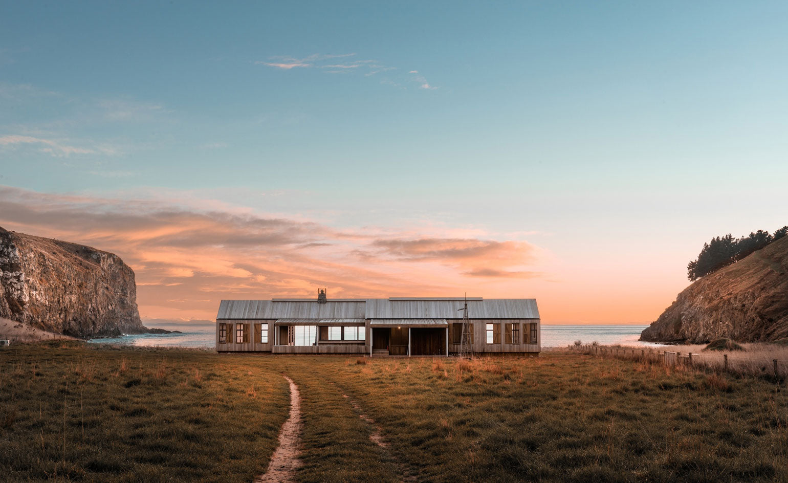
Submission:
[[[529,272],[537,248],[522,241],[337,229],[208,202],[184,206],[171,195],[115,199],[0,187],[0,226],[117,253],[136,272],[141,313],[153,318],[210,319],[221,298],[313,295],[318,286],[336,297],[455,295],[458,287],[515,295],[518,280],[541,277]]]

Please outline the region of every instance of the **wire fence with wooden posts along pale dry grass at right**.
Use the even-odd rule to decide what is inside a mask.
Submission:
[[[673,347],[671,347],[673,348]],[[699,370],[716,370],[751,376],[764,376],[782,381],[788,378],[788,359],[771,359],[768,355],[750,355],[746,352],[682,352],[660,351],[645,347],[608,347],[601,345],[569,346],[573,352],[597,357],[630,359],[639,362],[659,363],[665,366],[682,366]]]

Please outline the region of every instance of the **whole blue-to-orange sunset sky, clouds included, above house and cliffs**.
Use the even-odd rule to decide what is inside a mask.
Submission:
[[[786,2],[0,1],[0,226],[221,299],[648,323],[788,225]]]

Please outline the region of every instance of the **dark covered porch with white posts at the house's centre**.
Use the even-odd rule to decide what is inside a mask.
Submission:
[[[448,322],[444,318],[372,319],[370,340],[370,356],[448,356]]]

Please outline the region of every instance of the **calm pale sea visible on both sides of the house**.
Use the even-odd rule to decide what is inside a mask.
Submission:
[[[622,344],[629,346],[659,345],[637,340],[648,325],[550,325],[542,324],[542,347],[567,347],[575,340],[583,344]],[[93,339],[95,344],[122,344],[142,347],[214,348],[214,325],[173,325],[165,329],[180,330],[180,334],[135,334],[117,339]]]

